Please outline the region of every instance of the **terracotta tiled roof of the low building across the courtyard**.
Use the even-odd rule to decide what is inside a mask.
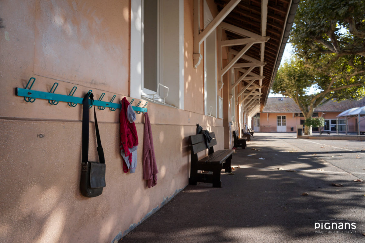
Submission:
[[[330,112],[330,111],[345,111],[351,109],[353,107],[362,107],[365,106],[365,97],[360,101],[328,101],[324,103],[322,106],[316,107],[314,109],[315,112]],[[273,97],[268,98],[263,113],[279,113],[279,112],[301,112],[299,106],[294,102],[292,98],[288,97]]]

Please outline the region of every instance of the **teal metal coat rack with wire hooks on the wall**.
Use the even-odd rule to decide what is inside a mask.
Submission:
[[[48,102],[51,105],[57,105],[59,101],[68,102],[68,105],[71,107],[75,107],[77,104],[82,104],[82,100],[84,98],[81,97],[73,97],[72,95],[75,93],[77,87],[74,86],[72,90],[70,91],[69,95],[62,95],[62,94],[55,94],[54,91],[57,89],[58,83],[54,83],[50,92],[43,92],[43,91],[37,91],[37,90],[31,90],[33,84],[34,84],[35,78],[30,78],[27,86],[25,89],[22,88],[15,88],[15,93],[18,96],[24,97],[24,100],[26,102],[33,103],[36,99],[47,99]],[[32,82],[30,84],[30,82]],[[30,85],[30,86],[29,86]],[[29,86],[29,87],[28,87]],[[92,90],[89,90],[88,93],[91,93]],[[94,101],[94,104],[92,103],[92,100],[89,99],[89,108],[92,107],[92,105],[96,105],[99,110],[104,110],[106,107],[109,108],[111,111],[115,111],[116,109],[120,109],[121,105],[120,103],[113,103],[115,95],[113,95],[110,102],[101,101],[104,97],[105,93],[100,95],[100,98],[98,100]],[[132,99],[131,104],[133,103],[134,99]],[[132,106],[133,110],[136,111],[136,113],[142,113],[147,112],[146,105],[143,107],[139,107],[139,104],[141,101],[138,102],[137,106]]]

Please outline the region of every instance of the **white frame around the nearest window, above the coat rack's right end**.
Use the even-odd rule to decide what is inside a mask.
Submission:
[[[171,59],[174,60],[174,63],[171,65],[171,67],[168,67],[170,58],[167,58],[164,63],[164,56],[160,56],[160,73],[157,85],[158,83],[161,83],[169,87],[169,96],[165,99],[167,103],[166,105],[172,105],[178,109],[184,109],[184,0],[159,1],[160,13],[161,8],[164,8],[164,13],[166,13],[166,20],[163,28],[166,28],[167,32],[172,30],[172,32],[174,33],[170,35],[166,34],[166,36],[162,38],[165,42],[165,45],[162,41],[160,41],[159,46],[160,50],[161,46],[163,46],[163,49],[166,50],[165,54],[167,55],[167,53],[169,53],[168,57],[171,57]],[[137,99],[143,98],[141,97],[141,95],[143,94],[155,93],[154,91],[144,89],[143,87],[142,4],[143,0],[131,0],[130,97]],[[162,27],[160,18],[160,36],[161,34],[163,34],[161,28]],[[164,65],[166,67],[166,71],[164,71]],[[162,77],[164,75],[165,78]],[[156,103],[161,102],[158,101]]]

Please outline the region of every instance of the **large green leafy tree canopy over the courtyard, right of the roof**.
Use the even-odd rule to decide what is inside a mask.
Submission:
[[[365,96],[365,0],[302,0],[290,42],[296,55],[279,68],[272,90],[293,98],[306,119],[331,99]],[[311,87],[317,92],[309,94]]]

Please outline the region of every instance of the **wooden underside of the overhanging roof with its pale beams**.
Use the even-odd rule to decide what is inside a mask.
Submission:
[[[231,1],[214,0],[219,12]],[[240,52],[248,46],[242,41],[240,43],[239,40],[243,40],[242,38],[254,37],[258,40],[257,38],[266,37],[268,39],[252,42],[234,66],[238,67],[235,70],[239,71],[239,75],[246,75],[239,81],[244,82],[243,87],[246,87],[246,90],[242,92],[238,90],[238,93],[242,94],[246,101],[256,101],[251,101],[255,104],[255,112],[263,109],[269,95],[270,86],[280,64],[298,4],[299,0],[242,0],[235,5],[220,24],[220,27],[226,31],[228,40],[237,40],[234,45],[229,46],[230,53],[235,56],[241,55]],[[239,29],[248,31],[249,35],[234,31],[233,28],[227,28],[227,26],[239,27]],[[225,43],[232,44],[234,41]],[[248,68],[249,65],[245,65],[245,63],[251,62],[256,63],[257,66]],[[254,78],[260,79],[252,81]],[[248,87],[253,87],[258,92],[252,92],[252,89],[250,90]],[[250,110],[253,110],[253,106],[250,105]]]

